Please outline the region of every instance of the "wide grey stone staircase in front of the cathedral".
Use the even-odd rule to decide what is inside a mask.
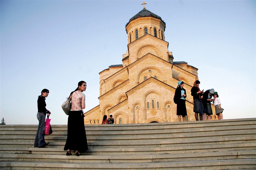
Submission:
[[[85,125],[89,151],[66,156],[67,125],[52,125],[33,148],[37,125],[0,125],[0,169],[256,169],[256,118]]]

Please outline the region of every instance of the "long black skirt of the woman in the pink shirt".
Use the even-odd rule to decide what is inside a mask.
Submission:
[[[85,152],[88,150],[84,118],[81,116],[82,111],[70,111],[68,117],[68,137],[64,151]]]

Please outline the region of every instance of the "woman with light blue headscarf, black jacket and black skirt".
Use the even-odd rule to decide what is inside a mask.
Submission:
[[[174,101],[177,104],[177,115],[178,121],[181,121],[181,116],[183,121],[186,121],[187,109],[186,109],[186,90],[183,88],[184,82],[179,81],[178,86],[175,90]]]

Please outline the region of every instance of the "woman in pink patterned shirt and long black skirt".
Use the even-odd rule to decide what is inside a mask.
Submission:
[[[85,108],[85,81],[80,81],[75,91],[71,92],[71,108],[68,117],[68,137],[64,151],[68,151],[66,155],[72,155],[71,151],[75,151],[76,155],[88,150],[87,139],[84,127],[84,114],[82,109]]]

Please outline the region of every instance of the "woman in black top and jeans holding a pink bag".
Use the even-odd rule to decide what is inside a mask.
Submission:
[[[46,109],[46,97],[49,95],[49,90],[43,89],[41,91],[41,95],[38,96],[37,99],[37,119],[39,121],[38,128],[37,128],[37,133],[36,133],[36,138],[34,141],[34,147],[35,148],[44,148],[46,145],[48,145],[50,142],[46,143],[44,141],[44,130],[45,130],[45,118],[46,114],[49,117],[50,116],[50,111]]]

